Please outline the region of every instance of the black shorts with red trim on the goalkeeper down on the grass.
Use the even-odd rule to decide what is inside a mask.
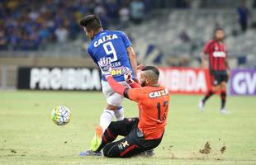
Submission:
[[[125,136],[125,138],[107,144],[103,148],[104,156],[109,158],[129,158],[156,148],[161,143],[163,135],[160,139],[145,139],[144,134],[137,127],[138,122],[138,118],[111,122],[108,131],[115,135]]]

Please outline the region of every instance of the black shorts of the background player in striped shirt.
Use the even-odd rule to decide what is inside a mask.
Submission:
[[[217,86],[221,82],[228,82],[228,74],[226,71],[210,71],[211,85]]]

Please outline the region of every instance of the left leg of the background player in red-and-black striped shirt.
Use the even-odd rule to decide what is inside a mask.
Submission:
[[[218,81],[218,79],[219,79],[219,76],[217,74],[211,74],[211,88],[209,89],[208,92],[206,92],[205,97],[203,97],[201,99],[201,101],[199,101],[199,109],[201,111],[204,110],[204,106],[206,104],[206,101],[219,90],[219,81]]]

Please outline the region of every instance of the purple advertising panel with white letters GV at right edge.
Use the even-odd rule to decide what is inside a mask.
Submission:
[[[256,95],[256,70],[234,70],[230,91],[236,95]]]

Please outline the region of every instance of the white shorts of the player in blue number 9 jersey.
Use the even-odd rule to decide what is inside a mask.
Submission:
[[[121,85],[130,87],[127,82],[119,82]],[[104,93],[105,97],[107,98],[107,103],[111,106],[121,106],[121,102],[123,101],[124,97],[120,94],[116,93],[112,87],[109,85],[108,82],[102,81],[102,92]]]

